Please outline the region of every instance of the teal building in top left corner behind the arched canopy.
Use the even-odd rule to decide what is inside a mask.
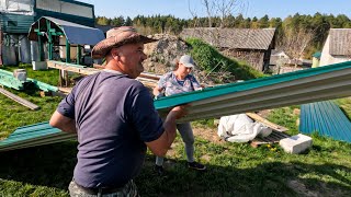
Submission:
[[[79,11],[77,11],[79,10]],[[0,60],[3,65],[32,62],[32,46],[26,38],[31,25],[42,16],[50,16],[94,27],[94,7],[75,0],[1,0]],[[2,65],[0,63],[0,65]]]

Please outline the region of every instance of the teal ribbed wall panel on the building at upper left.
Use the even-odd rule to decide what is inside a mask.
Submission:
[[[0,24],[4,33],[26,34],[33,22],[33,15],[21,15],[11,13],[0,14]]]

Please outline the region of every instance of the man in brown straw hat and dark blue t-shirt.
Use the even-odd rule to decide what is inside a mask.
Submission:
[[[53,127],[78,134],[71,196],[137,196],[133,178],[146,147],[163,157],[173,142],[185,106],[162,123],[150,93],[134,80],[144,71],[144,44],[154,40],[131,26],[110,30],[92,49],[93,58],[105,58],[105,69],[80,80],[53,114]]]

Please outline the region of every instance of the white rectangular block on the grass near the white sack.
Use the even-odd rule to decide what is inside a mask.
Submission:
[[[284,138],[279,141],[279,144],[284,149],[285,152],[292,154],[298,154],[312,147],[312,138],[302,134]]]

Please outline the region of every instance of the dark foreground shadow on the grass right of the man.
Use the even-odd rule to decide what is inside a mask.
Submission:
[[[185,161],[173,161],[166,174],[158,176],[152,164],[144,169],[136,179],[146,196],[349,196],[351,179],[337,172],[351,172],[350,167],[336,164],[306,164],[302,162],[263,163],[252,169],[207,165],[205,172],[186,167]],[[169,164],[168,164],[169,165]],[[167,165],[166,165],[167,166]],[[307,174],[332,177],[299,178]],[[349,176],[350,177],[350,176]]]

